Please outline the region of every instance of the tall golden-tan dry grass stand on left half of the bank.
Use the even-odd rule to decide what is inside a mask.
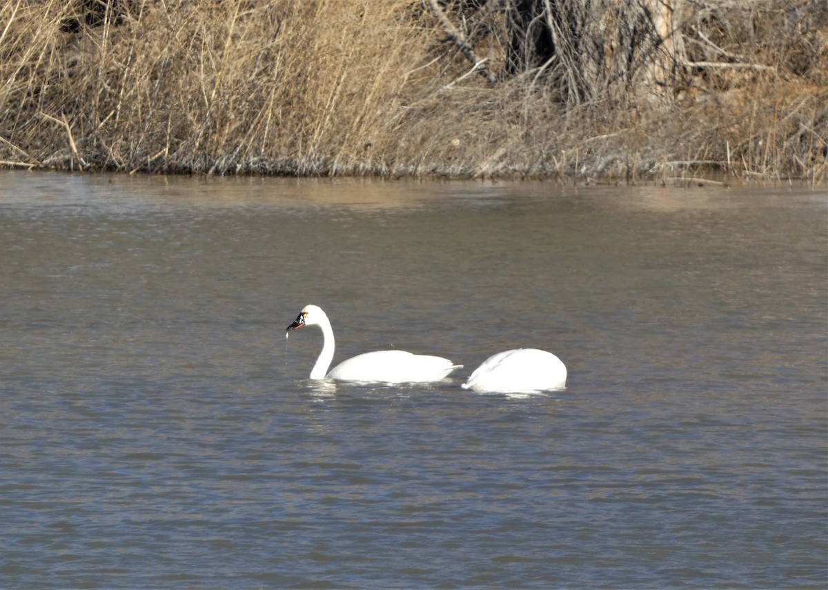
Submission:
[[[404,74],[430,34],[412,22],[410,2],[115,6],[121,24],[107,15],[69,32],[61,28],[82,2],[3,7],[0,133],[23,162],[368,170],[378,162],[372,138],[393,127]]]

